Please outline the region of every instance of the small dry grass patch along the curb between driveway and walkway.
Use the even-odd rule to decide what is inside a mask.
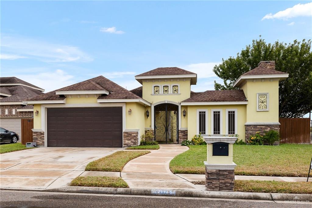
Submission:
[[[128,184],[119,177],[108,176],[78,176],[71,181],[71,186],[129,188]]]

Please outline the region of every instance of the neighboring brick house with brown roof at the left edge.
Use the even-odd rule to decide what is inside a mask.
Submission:
[[[23,100],[43,94],[41,89],[16,77],[0,78],[0,126],[16,132],[20,140],[21,119],[33,117],[33,106],[23,104]]]

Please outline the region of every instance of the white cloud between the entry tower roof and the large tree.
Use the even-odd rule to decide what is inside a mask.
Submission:
[[[181,68],[196,73],[198,78],[208,78],[216,76],[216,74],[212,71],[212,69],[215,65],[218,64],[220,63],[218,62],[193,63]]]

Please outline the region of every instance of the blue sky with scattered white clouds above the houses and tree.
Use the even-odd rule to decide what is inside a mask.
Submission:
[[[133,89],[134,75],[178,66],[205,91],[212,67],[259,35],[311,39],[311,15],[310,1],[1,1],[1,76],[46,92],[99,75]]]

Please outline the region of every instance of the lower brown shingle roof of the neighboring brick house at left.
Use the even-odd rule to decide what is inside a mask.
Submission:
[[[2,90],[9,90],[12,96],[2,98],[1,102],[22,102],[23,100],[27,100],[36,97],[37,95],[44,94],[43,92],[37,89],[33,89],[22,85],[17,85],[9,88],[1,87],[0,91],[2,92]]]

